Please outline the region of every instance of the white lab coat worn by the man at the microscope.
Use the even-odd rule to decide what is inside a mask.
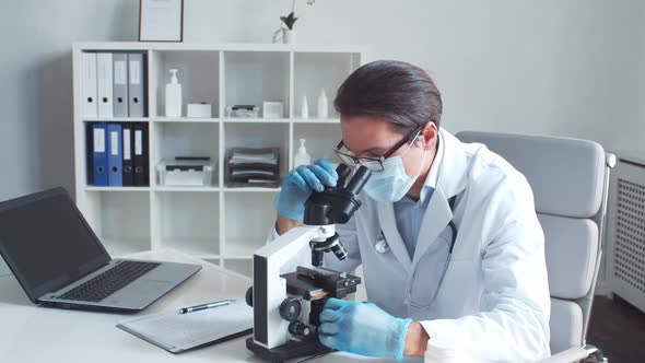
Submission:
[[[431,339],[452,341],[478,361],[546,358],[550,298],[532,191],[524,175],[485,147],[461,143],[444,129],[439,134],[443,155],[432,166],[436,188],[413,258],[397,230],[392,203],[362,192],[361,209],[337,226],[350,257],[339,262],[328,254],[326,266],[351,271],[362,264],[371,302],[420,321]],[[448,206],[453,196],[454,214]],[[447,257],[450,220],[457,239],[431,305]],[[382,230],[386,251],[376,248]]]

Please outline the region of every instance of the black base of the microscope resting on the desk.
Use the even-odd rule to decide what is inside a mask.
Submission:
[[[318,339],[306,341],[288,341],[285,344],[267,349],[256,344],[253,338],[246,340],[246,348],[257,356],[269,362],[284,362],[288,360],[319,355],[331,352],[331,349],[320,344]]]

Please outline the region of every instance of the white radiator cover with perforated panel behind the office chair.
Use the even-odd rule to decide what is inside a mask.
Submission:
[[[609,197],[608,282],[645,312],[645,160],[619,155]]]

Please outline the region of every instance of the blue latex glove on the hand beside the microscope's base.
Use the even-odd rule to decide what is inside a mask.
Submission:
[[[320,313],[320,342],[329,348],[367,356],[403,360],[411,319],[390,316],[373,303],[329,298]]]

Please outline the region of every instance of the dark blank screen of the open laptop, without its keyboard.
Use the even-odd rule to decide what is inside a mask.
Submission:
[[[0,253],[33,302],[110,260],[62,188],[0,203]]]

